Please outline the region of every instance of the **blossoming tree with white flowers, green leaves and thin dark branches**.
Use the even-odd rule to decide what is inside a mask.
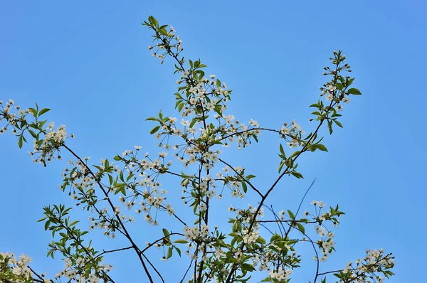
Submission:
[[[231,90],[215,75],[206,75],[206,65],[200,60],[184,60],[182,42],[174,28],[159,25],[152,16],[143,24],[154,32],[154,46],[149,46],[152,56],[161,63],[171,58],[174,73],[179,75],[174,95],[180,122],[162,112],[147,118],[154,122],[150,134],[159,139],[159,146],[164,149],[161,153],[141,154],[141,147],[135,146],[113,156],[114,161],[102,159],[100,164],[90,164],[88,158],[71,149],[68,138],[73,135],[68,135],[65,126],[55,127],[53,122],[42,119],[49,109],[36,105],[23,110],[13,100],[0,102],[0,121],[4,123],[0,132],[12,132],[20,148],[32,139],[30,154],[35,163],[47,166],[64,153],[73,156],[63,172],[60,188],[90,214],[90,229],[86,231],[71,218],[71,208],[62,204],[43,208],[44,218],[40,221],[54,239],[48,245],[48,256],[60,255],[65,267],[51,279],[31,268],[28,256],[17,258],[4,252],[0,254],[0,282],[115,282],[109,273],[112,265],[104,263],[104,255],[122,250],[135,252],[144,271],[139,282],[165,282],[164,274],[147,255],[152,247],[165,251],[162,260],[189,257],[188,268],[174,282],[251,282],[253,272],[263,272],[265,282],[290,282],[292,270],[300,267],[300,245],[310,245],[317,262],[312,282],[382,282],[393,275],[390,269],[394,257],[382,249],[367,250],[359,260],[342,265],[342,269],[320,271],[321,262],[335,251],[332,228],[339,225],[344,214],[338,205],[327,208],[322,201],[312,201],[312,209],[302,215],[300,207],[297,211],[276,212],[267,205],[271,192],[285,176],[302,178],[297,171],[302,154],[327,151],[319,130],[325,126],[332,134],[334,127],[342,127],[338,113],[342,104],[348,103],[351,95],[361,95],[351,87],[354,78],[343,75],[351,70],[344,63],[342,51],[334,51],[331,66],[324,68],[323,75],[330,80],[320,87],[320,100],[310,105],[314,109],[310,121],[315,124],[306,134],[295,121],[283,123],[280,129],[260,127],[253,119],[248,124],[239,122],[227,113]],[[257,187],[251,182],[253,174],[221,157],[221,148],[244,149],[251,142],[258,142],[261,132],[274,132],[283,144],[278,149],[277,178],[269,186]],[[167,159],[169,151],[178,165]],[[167,202],[167,191],[160,183],[164,175],[179,181],[184,206],[194,215],[191,223],[177,215]],[[234,215],[229,221],[231,230],[211,227],[211,199],[227,201],[230,194],[237,198],[252,194],[258,202],[243,208],[230,206]],[[159,223],[157,215],[161,213],[169,214],[182,231],[172,232],[167,222]],[[140,214],[148,223],[163,228],[157,240],[144,245],[127,229]],[[128,242],[127,247],[98,252],[85,241],[95,228],[107,237],[122,237]],[[185,252],[181,252],[183,249]]]

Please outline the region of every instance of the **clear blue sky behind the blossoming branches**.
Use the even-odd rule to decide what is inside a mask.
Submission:
[[[176,28],[186,58],[201,58],[206,73],[233,89],[231,114],[271,128],[296,119],[310,131],[315,126],[308,122],[308,105],[325,82],[322,67],[332,50],[343,49],[363,95],[345,106],[344,129],[325,137],[329,152],[303,156],[305,180],[285,178],[270,204],[296,210],[317,178],[304,207],[318,199],[339,203],[347,213],[325,270],[344,267],[367,248],[384,247],[396,256],[396,277],[389,282],[420,282],[427,252],[420,237],[427,196],[426,9],[423,1],[2,1],[0,100],[51,108],[46,117],[77,136],[69,146],[95,162],[134,144],[159,151],[148,134],[153,124],[144,119],[160,109],[176,115],[176,78],[170,60],[160,65],[147,50],[152,34],[141,23],[153,15]],[[259,144],[224,154],[263,186],[276,176],[279,142],[262,134]],[[11,134],[0,145],[0,251],[25,252],[33,267],[53,275],[63,264],[46,258],[51,235],[36,220],[43,205],[73,205],[58,190],[65,162],[47,169],[32,164],[29,146],[19,150]],[[180,195],[178,185],[165,183],[171,198]],[[225,218],[231,203],[236,201],[216,201]],[[247,203],[255,198],[248,196]],[[83,223],[88,218],[75,212]],[[142,243],[161,233],[151,231],[142,218],[132,227]],[[93,237],[99,247],[121,244]],[[302,253],[307,259],[295,282],[312,279],[310,249]],[[116,267],[116,282],[145,282],[131,252],[107,262]],[[170,272],[169,282],[184,268],[183,261],[156,263]]]

